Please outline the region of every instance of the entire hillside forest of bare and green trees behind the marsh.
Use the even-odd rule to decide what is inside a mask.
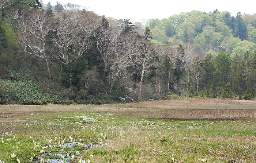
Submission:
[[[0,9],[0,104],[255,99],[256,14],[132,23],[58,1]]]

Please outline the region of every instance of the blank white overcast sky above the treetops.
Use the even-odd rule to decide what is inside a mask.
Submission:
[[[51,2],[56,4],[57,0],[43,0],[45,4]],[[98,15],[105,15],[115,19],[131,19],[131,22],[142,19],[163,19],[169,18],[181,12],[193,10],[213,12],[229,11],[236,16],[240,11],[242,14],[256,13],[256,1],[254,0],[58,0],[62,5],[65,3],[85,6],[89,11],[94,11]]]

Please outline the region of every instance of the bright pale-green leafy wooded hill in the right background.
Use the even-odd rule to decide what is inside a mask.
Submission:
[[[153,31],[155,44],[191,43],[198,53],[221,50],[229,55],[253,50],[256,43],[256,15],[231,16],[228,11],[191,11],[172,15],[168,19],[150,19],[146,23]]]

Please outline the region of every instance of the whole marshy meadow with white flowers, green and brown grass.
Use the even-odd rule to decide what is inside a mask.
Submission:
[[[256,101],[0,105],[0,163],[255,163]]]

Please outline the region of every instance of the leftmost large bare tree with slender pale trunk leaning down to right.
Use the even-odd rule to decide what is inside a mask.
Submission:
[[[18,14],[18,13],[17,13]],[[29,15],[16,15],[18,22],[17,35],[27,53],[44,59],[48,77],[51,79],[46,49],[46,37],[51,30],[52,19],[45,12],[33,11]]]

